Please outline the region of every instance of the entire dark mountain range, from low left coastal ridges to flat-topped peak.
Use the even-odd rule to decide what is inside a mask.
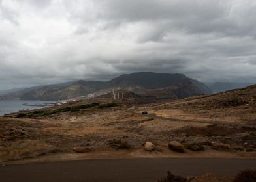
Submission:
[[[110,81],[74,81],[22,90],[20,99],[61,100],[86,96],[93,92],[121,88],[136,94],[154,93],[157,97],[185,98],[212,91],[203,83],[182,74],[140,72],[120,75]],[[157,94],[158,93],[158,94]],[[161,93],[161,94],[160,94]]]

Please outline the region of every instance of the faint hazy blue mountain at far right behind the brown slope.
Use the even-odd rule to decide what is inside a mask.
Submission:
[[[236,88],[244,88],[249,85],[253,85],[255,83],[229,83],[229,82],[216,82],[216,83],[208,83],[208,87],[214,93],[224,92],[227,90],[233,90]]]

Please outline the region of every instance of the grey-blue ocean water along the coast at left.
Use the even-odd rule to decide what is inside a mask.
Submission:
[[[27,103],[29,105],[42,104],[42,103],[51,103],[52,101],[24,101],[24,100],[0,100],[0,116],[4,114],[9,114],[12,112],[18,112],[19,110],[32,110],[40,109],[43,107],[39,106],[28,106],[22,105]]]

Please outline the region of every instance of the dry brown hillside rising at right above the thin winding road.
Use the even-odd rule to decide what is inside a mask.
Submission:
[[[204,96],[180,99],[150,108],[155,114],[256,124],[256,85]],[[175,113],[178,114],[175,114]]]

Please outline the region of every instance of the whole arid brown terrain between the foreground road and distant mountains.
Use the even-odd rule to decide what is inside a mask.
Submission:
[[[256,158],[256,85],[144,105],[111,101],[101,96],[1,117],[1,163]]]

